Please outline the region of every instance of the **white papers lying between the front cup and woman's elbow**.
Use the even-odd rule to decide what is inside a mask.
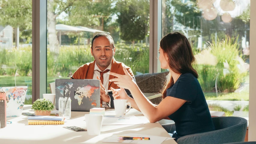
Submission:
[[[139,118],[133,115],[104,116],[102,125],[145,125]]]

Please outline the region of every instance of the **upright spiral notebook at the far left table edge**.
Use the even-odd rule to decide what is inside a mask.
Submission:
[[[0,128],[6,127],[6,93],[0,90]]]

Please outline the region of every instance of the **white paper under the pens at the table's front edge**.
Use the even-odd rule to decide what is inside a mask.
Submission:
[[[149,137],[150,140],[120,140],[120,137]],[[144,134],[125,134],[125,135],[114,135],[112,137],[108,137],[103,142],[105,143],[135,143],[135,144],[161,144],[166,140],[171,140],[174,138],[171,137],[159,137],[159,136],[151,136]]]

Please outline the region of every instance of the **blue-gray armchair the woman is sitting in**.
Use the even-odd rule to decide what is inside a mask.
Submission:
[[[197,144],[224,144],[243,142],[247,129],[247,120],[240,117],[213,117],[215,131],[199,134],[191,134],[180,137],[178,144],[197,143]],[[162,125],[168,133],[175,131],[174,124]]]

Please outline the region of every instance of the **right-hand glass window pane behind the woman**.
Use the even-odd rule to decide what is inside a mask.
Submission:
[[[248,119],[250,0],[162,0],[162,36],[193,48],[209,109]]]

